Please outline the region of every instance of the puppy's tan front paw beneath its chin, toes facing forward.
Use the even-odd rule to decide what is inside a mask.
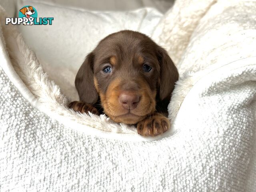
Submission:
[[[138,122],[137,132],[142,136],[156,136],[166,132],[170,128],[170,120],[160,113]]]

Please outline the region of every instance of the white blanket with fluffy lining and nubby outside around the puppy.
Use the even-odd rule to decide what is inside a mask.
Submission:
[[[143,138],[68,110],[0,9],[0,191],[255,191],[255,13],[255,1],[176,1],[153,34],[181,74],[172,129]]]

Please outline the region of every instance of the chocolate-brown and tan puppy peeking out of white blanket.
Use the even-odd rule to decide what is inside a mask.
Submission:
[[[75,85],[80,102],[69,108],[136,124],[143,136],[170,128],[167,106],[179,74],[167,52],[130,30],[110,34],[87,55]]]

